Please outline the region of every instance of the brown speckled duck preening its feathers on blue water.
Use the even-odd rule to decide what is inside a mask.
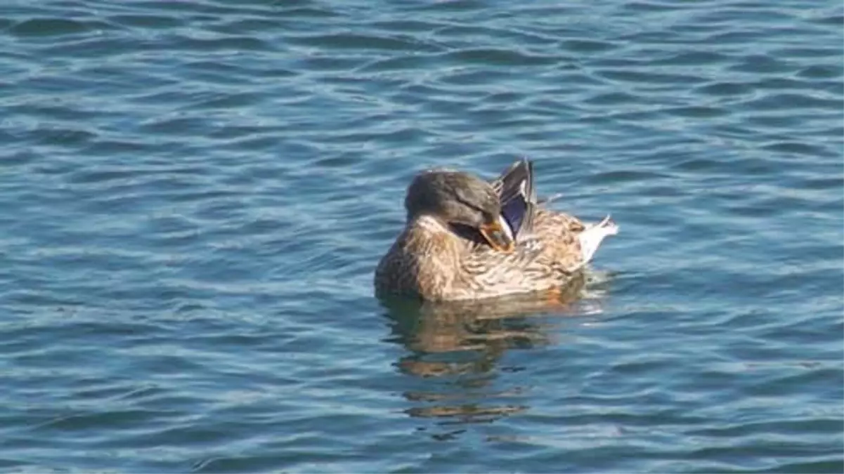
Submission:
[[[446,301],[564,286],[618,227],[609,216],[583,224],[541,203],[524,159],[491,182],[420,173],[404,199],[404,230],[376,269],[376,292]]]

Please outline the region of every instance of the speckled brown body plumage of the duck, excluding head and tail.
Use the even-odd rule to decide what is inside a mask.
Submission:
[[[495,187],[501,180],[487,183],[462,176],[463,186],[479,194],[483,186]],[[410,191],[406,202],[413,202]],[[376,292],[445,301],[564,286],[586,263],[578,236],[588,227],[575,217],[538,206],[530,206],[529,212],[530,229],[517,235],[509,252],[457,231],[449,216],[408,212],[405,228],[376,269]]]

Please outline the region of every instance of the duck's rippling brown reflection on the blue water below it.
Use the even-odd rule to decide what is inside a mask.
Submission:
[[[435,420],[435,439],[452,439],[467,424],[494,423],[525,412],[530,390],[517,374],[523,367],[502,364],[512,350],[554,343],[560,324],[554,316],[582,315],[576,304],[586,277],[544,294],[472,302],[428,304],[381,299],[391,335],[405,353],[394,364],[407,375],[402,395],[411,417]],[[533,383],[533,382],[531,382]],[[430,423],[419,428],[429,431]]]

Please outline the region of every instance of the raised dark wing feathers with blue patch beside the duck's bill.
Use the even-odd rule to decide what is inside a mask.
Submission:
[[[533,189],[533,162],[520,159],[492,181],[501,202],[501,215],[513,231],[513,235],[530,234],[533,231],[533,215],[536,211],[536,191]]]

